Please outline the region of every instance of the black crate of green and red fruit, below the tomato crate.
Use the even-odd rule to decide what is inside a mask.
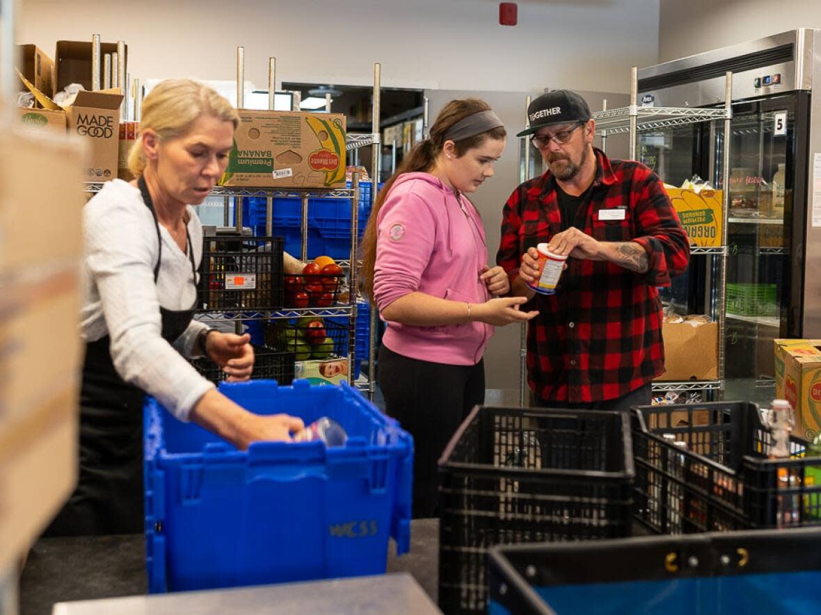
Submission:
[[[319,326],[313,323],[319,322]],[[349,328],[320,317],[277,319],[265,325],[265,344],[294,353],[296,361],[347,357]]]

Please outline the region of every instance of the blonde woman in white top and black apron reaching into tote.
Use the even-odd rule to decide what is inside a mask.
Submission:
[[[288,440],[302,427],[295,417],[247,412],[184,358],[207,356],[235,380],[254,365],[248,335],[192,320],[203,245],[192,206],[225,170],[237,125],[236,110],[213,89],[163,81],[144,100],[131,149],[137,179],[112,180],[85,205],[80,478],[51,535],[143,531],[145,394],[240,449]]]

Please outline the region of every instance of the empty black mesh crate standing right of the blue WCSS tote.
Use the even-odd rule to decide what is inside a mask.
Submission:
[[[477,406],[439,460],[439,608],[484,613],[494,544],[629,535],[633,480],[624,413]]]

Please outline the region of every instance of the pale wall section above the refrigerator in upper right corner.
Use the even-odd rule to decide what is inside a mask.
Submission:
[[[658,62],[796,28],[821,28],[821,2],[660,0]]]

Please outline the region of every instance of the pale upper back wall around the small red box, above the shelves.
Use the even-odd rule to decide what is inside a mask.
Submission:
[[[17,39],[53,55],[57,40],[123,39],[141,80],[191,76],[493,91],[626,91],[629,67],[656,61],[658,0],[525,0],[498,25],[496,0],[25,0]]]

